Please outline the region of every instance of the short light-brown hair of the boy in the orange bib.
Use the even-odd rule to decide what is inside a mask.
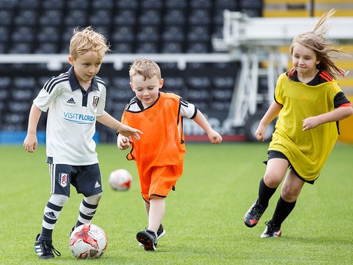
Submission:
[[[134,63],[130,65],[130,81],[132,82],[132,76],[140,74],[144,76],[144,80],[151,79],[156,76],[158,80],[162,79],[160,73],[160,67],[153,60],[150,59],[136,59]]]

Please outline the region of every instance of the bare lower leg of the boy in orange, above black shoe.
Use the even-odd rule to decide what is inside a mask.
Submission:
[[[146,209],[146,204],[145,204]],[[147,211],[147,210],[146,210]],[[157,233],[160,223],[165,215],[165,198],[152,196],[148,211],[148,229]]]

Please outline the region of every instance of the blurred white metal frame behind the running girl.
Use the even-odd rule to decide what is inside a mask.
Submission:
[[[258,103],[273,101],[275,83],[288,65],[288,53],[279,51],[289,46],[294,36],[314,29],[319,18],[249,18],[240,12],[224,11],[223,39],[213,39],[214,48],[227,50],[241,70],[233,92],[228,118],[234,127],[243,127],[247,117],[255,114]],[[326,38],[335,44],[352,44],[353,18],[330,18]],[[268,67],[261,69],[260,62]],[[258,77],[266,76],[268,91],[258,93]]]

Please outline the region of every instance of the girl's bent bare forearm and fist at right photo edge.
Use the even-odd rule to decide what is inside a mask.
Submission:
[[[333,109],[333,111],[326,112],[317,116],[309,117],[303,119],[303,130],[314,129],[320,124],[331,123],[332,121],[340,121],[344,118],[347,118],[353,114],[353,108],[350,106],[347,107],[338,107]]]

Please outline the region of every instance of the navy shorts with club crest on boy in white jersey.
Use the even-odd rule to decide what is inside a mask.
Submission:
[[[70,184],[77,193],[85,197],[101,193],[102,179],[99,164],[64,165],[49,164],[51,190],[50,193],[70,196]]]

